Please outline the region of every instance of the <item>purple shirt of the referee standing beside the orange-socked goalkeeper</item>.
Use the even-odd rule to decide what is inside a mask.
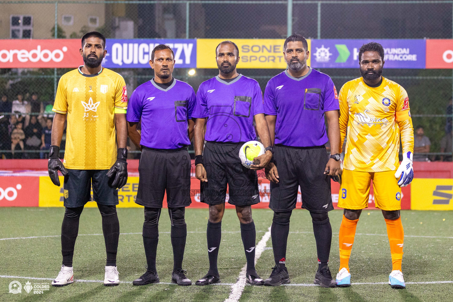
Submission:
[[[266,115],[277,115],[275,144],[314,147],[328,142],[324,112],[339,110],[332,79],[310,67],[304,77],[284,71],[271,78],[264,92]]]

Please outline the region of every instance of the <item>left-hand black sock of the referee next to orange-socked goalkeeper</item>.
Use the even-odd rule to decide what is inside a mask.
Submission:
[[[270,228],[270,238],[272,239],[272,249],[274,251],[275,265],[285,266],[286,264],[286,243],[289,234],[289,212],[274,212],[272,226]]]

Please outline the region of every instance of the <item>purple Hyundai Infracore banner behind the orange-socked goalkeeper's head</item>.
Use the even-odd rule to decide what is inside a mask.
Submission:
[[[359,49],[369,42],[384,48],[386,68],[425,68],[426,44],[423,39],[320,39],[312,40],[313,68],[358,68]]]

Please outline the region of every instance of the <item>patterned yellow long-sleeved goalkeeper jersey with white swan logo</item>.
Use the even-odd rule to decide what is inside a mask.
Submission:
[[[403,152],[414,152],[409,97],[402,86],[382,77],[381,85],[373,88],[360,77],[344,84],[338,98],[340,152],[347,134],[345,169],[361,172],[396,170],[400,136]]]

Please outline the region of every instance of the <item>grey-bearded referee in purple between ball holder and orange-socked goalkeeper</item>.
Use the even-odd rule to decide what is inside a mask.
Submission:
[[[289,36],[283,49],[288,69],[270,79],[264,94],[266,120],[275,143],[273,163],[266,167],[271,181],[269,207],[274,211],[271,238],[275,267],[264,285],[289,283],[286,243],[300,186],[302,207],[310,211],[318,252],[314,283],[336,287],[328,268],[332,241],[328,211],[333,210],[330,178],[337,177],[340,170],[337,92],[328,75],[307,66],[309,52],[304,37]],[[324,146],[328,140],[330,158]]]

